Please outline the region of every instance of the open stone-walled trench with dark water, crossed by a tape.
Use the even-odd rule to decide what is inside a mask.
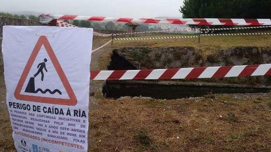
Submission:
[[[147,50],[148,49],[148,50]],[[242,52],[246,50],[246,52]],[[251,50],[251,51],[249,51]],[[140,54],[144,52],[145,54]],[[173,54],[173,56],[170,56]],[[175,55],[174,55],[175,54]],[[179,54],[176,57],[176,54]],[[181,55],[180,55],[181,54]],[[166,60],[166,62],[164,61]],[[108,70],[187,68],[266,64],[271,60],[270,48],[231,48],[203,55],[193,48],[123,48],[115,49]],[[145,62],[146,61],[146,62]],[[180,99],[208,94],[267,93],[270,77],[219,78],[194,80],[107,80],[103,96],[144,96],[155,99]]]

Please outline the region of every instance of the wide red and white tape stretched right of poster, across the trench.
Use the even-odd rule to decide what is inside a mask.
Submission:
[[[91,71],[91,80],[167,80],[271,76],[271,64],[175,68],[155,70]]]

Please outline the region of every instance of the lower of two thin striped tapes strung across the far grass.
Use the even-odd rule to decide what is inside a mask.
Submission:
[[[236,35],[269,35],[271,33],[220,33],[220,34],[201,34],[200,36],[236,36]],[[158,40],[158,39],[178,39],[178,38],[197,38],[199,36],[176,36],[176,37],[147,37],[147,38],[114,38],[114,40]]]

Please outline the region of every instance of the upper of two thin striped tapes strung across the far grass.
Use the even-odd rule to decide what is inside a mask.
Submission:
[[[271,26],[251,26],[251,27],[234,27],[234,28],[218,28],[218,29],[200,29],[200,28],[188,28],[188,29],[171,29],[171,30],[160,30],[160,31],[146,31],[146,32],[134,32],[134,33],[118,33],[113,34],[113,36],[117,35],[127,35],[127,34],[140,34],[140,33],[159,33],[159,32],[175,32],[175,31],[196,31],[196,30],[202,30],[202,31],[216,31],[216,30],[232,30],[232,29],[258,29],[258,28],[269,28]]]

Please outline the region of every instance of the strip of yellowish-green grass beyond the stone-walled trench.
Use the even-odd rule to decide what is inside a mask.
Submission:
[[[177,36],[177,35],[176,35]],[[159,37],[159,36],[155,36]],[[142,37],[143,38],[143,37]],[[270,46],[271,35],[253,36],[204,36],[198,38],[179,38],[162,40],[116,40],[114,47],[173,47],[173,46],[192,46],[196,48],[206,47],[235,47],[235,46]]]

